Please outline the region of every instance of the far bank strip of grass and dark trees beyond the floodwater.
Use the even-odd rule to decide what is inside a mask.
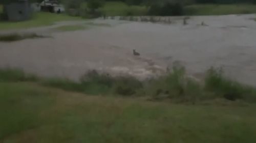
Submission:
[[[256,0],[62,0],[62,2],[66,5],[69,15],[86,18],[248,14],[255,13],[251,5],[256,4]],[[123,7],[123,10],[120,10],[120,7]]]

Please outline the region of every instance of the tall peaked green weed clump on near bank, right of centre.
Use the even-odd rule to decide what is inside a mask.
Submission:
[[[170,99],[175,102],[195,103],[202,96],[200,83],[187,77],[184,67],[174,67],[167,75],[153,79],[147,88],[153,100]]]

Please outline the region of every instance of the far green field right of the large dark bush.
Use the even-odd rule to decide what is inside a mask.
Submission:
[[[191,5],[185,7],[187,15],[226,15],[256,13],[256,5]]]

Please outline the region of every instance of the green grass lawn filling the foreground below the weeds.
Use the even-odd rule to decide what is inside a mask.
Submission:
[[[175,105],[0,82],[0,142],[254,143],[255,107]]]

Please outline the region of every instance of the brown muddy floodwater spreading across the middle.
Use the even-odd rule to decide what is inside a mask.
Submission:
[[[214,66],[256,85],[255,17],[198,16],[187,25],[176,17],[171,24],[96,19],[81,21],[91,26],[79,31],[55,32],[51,26],[21,30],[51,38],[0,42],[0,67],[77,80],[90,69],[145,78],[178,62],[197,78]],[[141,55],[134,56],[133,49]]]

